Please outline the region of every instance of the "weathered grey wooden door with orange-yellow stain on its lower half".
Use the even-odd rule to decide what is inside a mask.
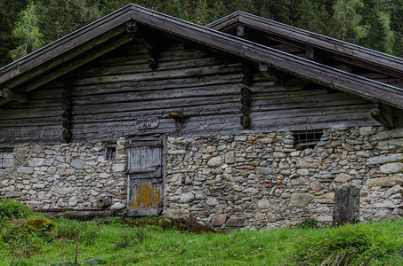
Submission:
[[[159,215],[164,207],[164,142],[149,137],[130,144],[128,215]]]

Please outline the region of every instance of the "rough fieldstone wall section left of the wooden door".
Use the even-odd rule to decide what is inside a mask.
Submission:
[[[20,145],[14,165],[0,169],[0,197],[35,209],[114,210],[126,206],[127,140],[117,142],[117,159],[105,159],[105,145]]]

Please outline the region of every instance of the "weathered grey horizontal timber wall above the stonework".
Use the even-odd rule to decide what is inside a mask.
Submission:
[[[117,141],[122,136],[170,133],[175,137],[376,125],[367,101],[308,84],[277,86],[262,74],[242,80],[238,59],[173,45],[161,51],[156,70],[148,51],[125,45],[88,66],[32,92],[27,105],[0,108],[0,146],[61,143],[62,87],[72,94],[73,142]],[[252,67],[253,68],[253,67]],[[240,124],[241,89],[252,91],[251,126]],[[186,116],[181,123],[171,113]],[[141,129],[138,119],[157,118]]]

